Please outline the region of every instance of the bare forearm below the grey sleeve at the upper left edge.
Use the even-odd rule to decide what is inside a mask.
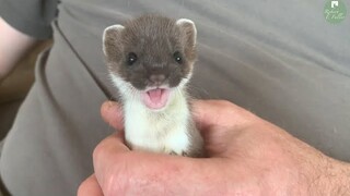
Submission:
[[[35,42],[36,39],[16,30],[0,17],[0,82]]]

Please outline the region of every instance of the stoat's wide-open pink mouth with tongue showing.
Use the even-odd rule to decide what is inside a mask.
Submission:
[[[159,110],[165,107],[168,97],[170,89],[154,88],[141,94],[143,103],[153,110]]]

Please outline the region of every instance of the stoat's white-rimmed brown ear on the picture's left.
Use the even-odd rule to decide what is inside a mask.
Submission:
[[[124,28],[122,25],[117,24],[108,26],[103,33],[103,52],[109,60],[121,57],[121,33]]]

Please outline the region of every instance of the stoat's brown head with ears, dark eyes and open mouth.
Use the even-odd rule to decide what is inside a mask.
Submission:
[[[184,88],[196,61],[195,23],[143,15],[104,30],[103,51],[122,98],[160,110]]]

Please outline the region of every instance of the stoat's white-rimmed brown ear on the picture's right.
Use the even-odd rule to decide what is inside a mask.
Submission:
[[[180,29],[186,47],[194,48],[197,41],[197,29],[195,23],[188,19],[179,19],[176,21],[176,25]]]

